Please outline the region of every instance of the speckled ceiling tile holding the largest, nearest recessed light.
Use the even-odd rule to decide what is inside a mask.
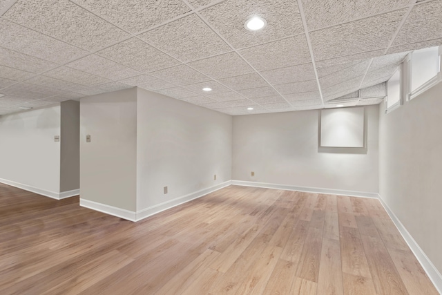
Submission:
[[[304,32],[296,1],[227,0],[200,13],[234,48],[262,44]],[[267,21],[264,30],[251,32],[244,28],[245,21],[251,15]]]

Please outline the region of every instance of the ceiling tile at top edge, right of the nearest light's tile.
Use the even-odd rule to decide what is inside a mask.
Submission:
[[[410,0],[364,0],[364,1],[336,1],[336,0],[302,0],[302,7],[307,20],[307,28],[316,30],[346,23],[353,19],[361,19],[369,15],[403,8]]]

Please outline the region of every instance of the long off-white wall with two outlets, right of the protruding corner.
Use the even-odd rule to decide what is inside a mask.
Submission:
[[[231,180],[231,135],[231,116],[138,88],[137,211]]]

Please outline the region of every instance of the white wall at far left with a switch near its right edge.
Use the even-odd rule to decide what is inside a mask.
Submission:
[[[60,191],[55,135],[60,135],[59,104],[0,117],[0,181],[55,197]]]

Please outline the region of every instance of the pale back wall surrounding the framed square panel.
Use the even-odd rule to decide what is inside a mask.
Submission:
[[[318,152],[318,110],[233,117],[233,180],[377,193],[378,106],[366,110],[366,154]]]

